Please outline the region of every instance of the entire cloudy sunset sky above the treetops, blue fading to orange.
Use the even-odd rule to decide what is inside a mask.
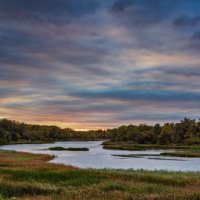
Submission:
[[[200,118],[199,0],[0,0],[0,118],[77,130]]]

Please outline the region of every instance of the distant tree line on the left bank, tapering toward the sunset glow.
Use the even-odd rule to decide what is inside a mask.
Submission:
[[[0,120],[0,144],[12,142],[51,142],[61,140],[95,140],[106,138],[106,132],[75,131],[71,128],[61,129],[57,126],[31,125],[11,121]]]

